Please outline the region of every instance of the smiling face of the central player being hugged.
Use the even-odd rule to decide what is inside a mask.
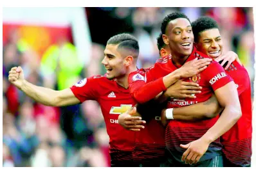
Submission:
[[[163,35],[165,44],[169,45],[173,56],[189,56],[193,50],[194,35],[190,22],[185,18],[171,20]]]

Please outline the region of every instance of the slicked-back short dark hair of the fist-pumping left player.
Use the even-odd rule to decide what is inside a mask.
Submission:
[[[123,48],[132,51],[134,56],[138,56],[140,52],[138,40],[129,33],[120,33],[112,36],[107,40],[107,45],[109,44],[118,45],[118,49]]]

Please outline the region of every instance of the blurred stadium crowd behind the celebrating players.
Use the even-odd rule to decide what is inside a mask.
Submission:
[[[104,45],[122,32],[138,38],[138,67],[149,67],[159,57],[161,20],[174,11],[191,21],[217,20],[224,51],[239,55],[253,94],[252,8],[3,8],[3,166],[109,166],[109,138],[95,101],[43,106],[10,85],[8,71],[21,65],[35,85],[68,88],[105,73]]]

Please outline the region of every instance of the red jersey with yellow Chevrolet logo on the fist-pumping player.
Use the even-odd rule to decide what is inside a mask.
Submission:
[[[118,124],[118,116],[135,104],[129,90],[105,76],[83,79],[70,89],[80,102],[95,100],[100,104],[109,135],[111,160],[131,161],[135,132]]]

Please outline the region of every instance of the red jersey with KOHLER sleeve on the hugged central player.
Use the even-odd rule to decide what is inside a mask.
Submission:
[[[198,52],[194,47],[192,54],[190,54],[187,61],[194,60],[196,57],[199,59],[209,58],[205,54]],[[173,64],[171,56],[160,59],[150,68],[149,72],[147,72],[147,83],[159,79],[160,77],[173,72],[177,68],[178,67]],[[203,87],[201,93],[196,95],[196,99],[171,99],[171,101],[169,101],[168,108],[178,108],[196,104],[198,102],[204,102],[210,99],[214,90],[230,83],[232,78],[225,73],[223,67],[221,67],[219,63],[212,61],[206,70],[197,74],[197,76],[185,79],[185,81],[198,83]],[[185,152],[185,149],[182,149],[179,145],[181,143],[187,144],[190,141],[201,138],[201,136],[203,136],[203,134],[205,134],[206,131],[215,124],[217,119],[218,117],[215,117],[210,120],[201,120],[199,122],[170,120],[165,133],[165,144],[167,149],[169,149],[170,153],[177,161],[181,162],[181,156],[183,155],[183,152]],[[201,157],[200,161],[204,161],[221,154],[220,150],[221,143],[220,140],[217,139],[210,144],[208,150],[205,155]]]

